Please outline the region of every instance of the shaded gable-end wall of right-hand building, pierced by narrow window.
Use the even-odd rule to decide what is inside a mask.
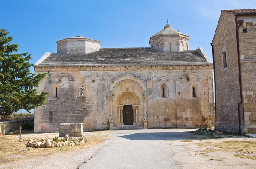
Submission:
[[[238,132],[240,102],[235,16],[222,11],[213,39],[216,80],[216,129]],[[223,68],[222,54],[227,54]]]

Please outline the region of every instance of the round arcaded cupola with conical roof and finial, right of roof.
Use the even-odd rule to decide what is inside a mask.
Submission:
[[[150,37],[151,49],[160,52],[180,52],[189,49],[189,36],[183,34],[169,25]]]

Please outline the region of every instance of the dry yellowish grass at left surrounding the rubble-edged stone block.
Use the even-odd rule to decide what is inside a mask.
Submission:
[[[0,163],[8,163],[13,161],[25,160],[31,157],[42,157],[52,155],[55,153],[67,153],[71,151],[79,151],[81,149],[87,149],[91,146],[96,146],[99,143],[103,143],[105,139],[112,131],[96,131],[96,132],[84,132],[87,135],[87,143],[80,146],[66,146],[59,148],[32,148],[26,147],[26,143],[30,138],[49,138],[54,136],[58,137],[58,133],[42,133],[42,134],[24,134],[22,139],[24,142],[19,142],[18,135],[7,135],[5,139],[0,138]],[[25,149],[26,151],[20,151]]]

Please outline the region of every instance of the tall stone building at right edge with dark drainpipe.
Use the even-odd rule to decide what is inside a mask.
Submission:
[[[215,127],[256,133],[256,9],[221,11],[212,45]]]

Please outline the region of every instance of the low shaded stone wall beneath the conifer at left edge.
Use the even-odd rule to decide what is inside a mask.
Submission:
[[[20,126],[24,126],[22,129],[27,129],[29,126],[34,126],[34,118],[22,119],[22,120],[10,120],[0,122],[0,132],[2,132],[1,124],[6,124],[5,133],[14,132],[19,130]]]

